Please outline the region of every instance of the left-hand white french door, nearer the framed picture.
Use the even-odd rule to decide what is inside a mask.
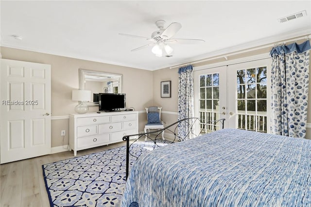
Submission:
[[[194,114],[202,121],[200,127],[195,127],[196,130],[207,133],[222,128],[221,123],[214,124],[211,121],[226,118],[226,66],[209,69],[196,67],[193,74]],[[227,123],[224,124],[226,128]]]

